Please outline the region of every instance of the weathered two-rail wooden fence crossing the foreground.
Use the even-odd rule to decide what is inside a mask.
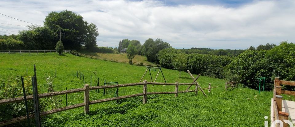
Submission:
[[[172,86],[175,86],[175,91],[173,91],[173,92],[147,92],[148,84],[172,85]],[[143,85],[143,92],[142,93],[89,101],[89,91],[90,90],[129,87],[129,86],[137,86],[137,85]],[[57,109],[53,109],[53,110],[44,111],[44,112],[40,113],[40,116],[49,115],[49,114],[53,114],[53,113],[57,113],[57,112],[65,111],[65,110],[70,110],[70,109],[74,109],[74,108],[78,108],[78,107],[82,107],[82,106],[84,106],[84,112],[89,113],[89,105],[91,105],[91,104],[102,103],[102,102],[118,100],[118,99],[125,99],[125,98],[136,97],[136,96],[143,96],[142,103],[145,104],[145,103],[147,103],[147,95],[151,95],[151,94],[175,94],[175,97],[177,97],[178,93],[197,92],[198,91],[197,87],[195,88],[195,90],[179,91],[178,90],[179,85],[194,85],[194,83],[178,83],[178,82],[176,82],[176,83],[159,83],[159,82],[147,82],[147,80],[144,80],[144,82],[139,82],[139,83],[105,85],[105,86],[92,86],[92,87],[89,87],[88,84],[85,84],[84,88],[77,88],[77,89],[71,89],[71,90],[65,90],[65,91],[38,94],[39,98],[46,98],[46,97],[52,97],[52,96],[57,96],[57,95],[65,95],[65,94],[76,93],[76,92],[84,92],[84,103],[78,103],[78,104],[74,104],[74,105],[70,105],[70,106],[66,106],[66,107],[62,107],[62,108],[57,108]],[[211,89],[211,88],[216,88],[216,87],[209,87],[209,88],[205,88],[205,89]],[[199,90],[201,90],[201,89],[199,89]],[[32,100],[33,95],[26,96],[26,99],[27,100]],[[8,103],[23,102],[23,101],[25,101],[24,97],[2,99],[2,100],[0,100],[0,105],[1,104],[8,104]],[[33,118],[33,117],[34,117],[34,114],[29,114],[29,118]],[[12,124],[12,123],[24,121],[26,119],[27,119],[27,116],[21,116],[21,117],[18,117],[18,118],[12,118],[12,119],[10,119],[8,121],[0,122],[0,126],[9,125],[9,124]]]

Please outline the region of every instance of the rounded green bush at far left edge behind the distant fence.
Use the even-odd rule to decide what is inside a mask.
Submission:
[[[0,39],[0,50],[22,50],[25,45],[22,41],[8,38]]]

